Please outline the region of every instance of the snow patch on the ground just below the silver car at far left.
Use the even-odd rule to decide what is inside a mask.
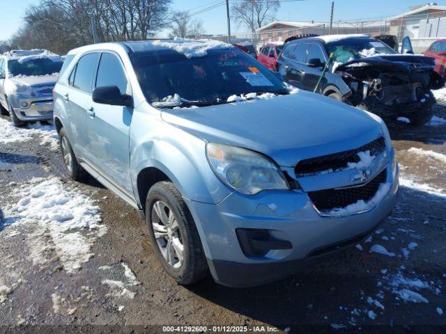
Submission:
[[[15,127],[8,120],[0,118],[0,143],[23,143],[30,141],[33,135],[40,136],[40,145],[49,145],[52,150],[59,148],[59,136],[54,126],[36,122],[26,127]]]

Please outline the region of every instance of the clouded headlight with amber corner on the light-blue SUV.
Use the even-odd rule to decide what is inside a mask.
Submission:
[[[284,174],[262,154],[236,146],[208,143],[206,157],[215,175],[246,195],[265,189],[289,189]]]

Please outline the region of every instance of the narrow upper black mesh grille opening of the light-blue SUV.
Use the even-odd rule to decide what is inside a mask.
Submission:
[[[324,170],[346,168],[349,162],[360,161],[360,157],[357,155],[357,153],[370,151],[370,155],[377,156],[383,152],[384,149],[385,141],[383,137],[380,137],[354,150],[302,160],[295,166],[294,173],[296,177],[302,177],[308,174],[322,172]]]

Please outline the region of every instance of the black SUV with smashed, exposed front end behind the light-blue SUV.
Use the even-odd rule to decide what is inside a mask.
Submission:
[[[409,53],[410,50],[407,51]],[[286,43],[277,61],[282,77],[376,113],[387,120],[405,117],[429,122],[436,104],[432,89],[444,86],[433,59],[397,51],[367,35],[330,35]]]

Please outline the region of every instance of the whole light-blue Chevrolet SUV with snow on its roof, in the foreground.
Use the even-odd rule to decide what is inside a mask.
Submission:
[[[178,283],[277,280],[392,212],[383,120],[295,90],[236,47],[98,44],[66,63],[54,123],[68,175],[86,171],[139,210]]]

